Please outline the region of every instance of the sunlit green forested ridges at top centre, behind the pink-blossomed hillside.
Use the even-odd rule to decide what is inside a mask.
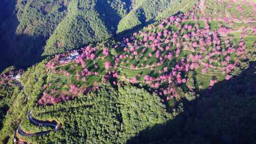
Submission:
[[[100,42],[117,33],[127,34],[157,16],[166,18],[164,12],[175,14],[182,8],[191,8],[197,0],[71,0],[68,15],[56,28],[45,46],[46,55],[61,53],[89,43]],[[167,13],[167,12],[165,12]]]

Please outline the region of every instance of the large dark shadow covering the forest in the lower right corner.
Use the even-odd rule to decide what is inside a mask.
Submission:
[[[256,144],[256,62],[174,107],[178,116],[146,128],[127,144]]]

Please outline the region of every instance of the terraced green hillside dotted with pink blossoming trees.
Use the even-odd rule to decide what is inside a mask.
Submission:
[[[186,13],[145,27],[114,48],[86,46],[75,62],[64,61],[67,54],[56,55],[47,68],[55,75],[69,77],[70,88],[47,81],[48,85],[54,83],[55,89],[52,92],[49,85],[40,104],[49,103],[45,100],[48,97],[54,97],[55,102],[64,100],[63,90],[96,88],[94,83],[111,76],[139,83],[167,101],[181,99],[183,91],[206,90],[218,81],[229,80],[253,59],[256,23],[254,17],[250,24],[239,19],[242,23],[232,25],[232,18],[199,16],[208,9],[204,9],[207,4],[199,2]],[[253,11],[252,7],[248,9]],[[219,11],[222,13],[225,11]]]

